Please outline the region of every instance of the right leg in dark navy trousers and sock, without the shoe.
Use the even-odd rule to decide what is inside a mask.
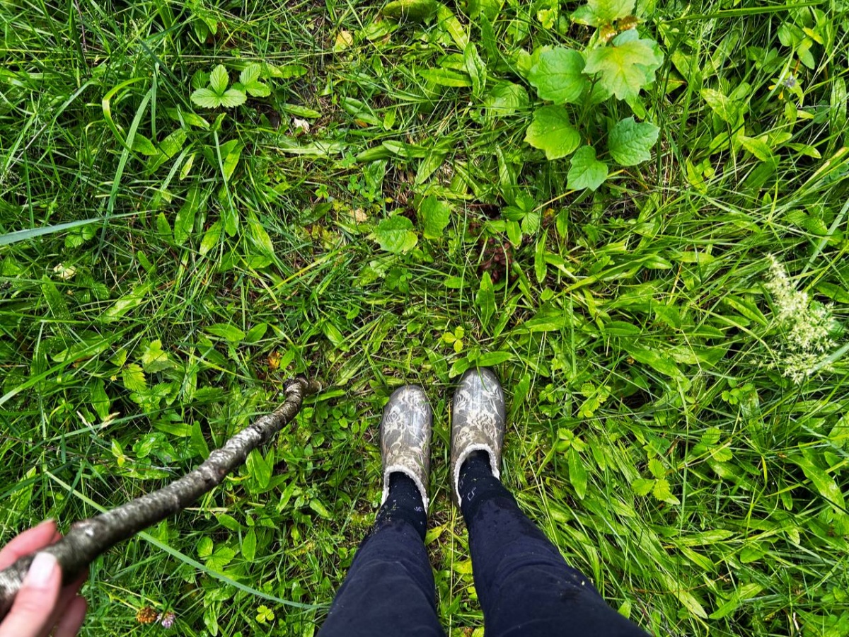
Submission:
[[[459,478],[486,637],[646,637],[519,510],[485,452],[470,454]]]

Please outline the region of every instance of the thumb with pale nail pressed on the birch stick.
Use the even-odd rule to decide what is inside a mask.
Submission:
[[[0,637],[37,637],[47,628],[59,599],[62,572],[49,553],[37,553],[14,604],[0,624]]]

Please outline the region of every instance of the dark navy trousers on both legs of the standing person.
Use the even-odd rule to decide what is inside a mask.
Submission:
[[[506,491],[466,519],[486,637],[646,637],[602,600],[582,572]],[[388,521],[361,544],[319,637],[444,637],[424,543]]]

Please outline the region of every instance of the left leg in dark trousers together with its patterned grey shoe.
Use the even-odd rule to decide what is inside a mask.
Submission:
[[[380,421],[383,503],[319,637],[444,637],[424,532],[433,416],[424,390],[403,386]]]

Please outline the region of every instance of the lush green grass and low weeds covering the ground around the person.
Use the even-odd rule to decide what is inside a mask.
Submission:
[[[844,339],[794,383],[764,288],[774,255],[846,321],[849,6],[641,4],[665,54],[639,98],[660,139],[593,193],[524,143],[531,108],[494,117],[420,73],[467,37],[485,88],[536,104],[517,52],[585,46],[538,19],[576,3],[508,0],[492,38],[453,4],[424,25],[380,3],[218,4],[0,4],[0,538],[159,487],[289,375],[331,384],[264,457],[93,565],[83,634],[158,634],[143,606],[178,634],[314,634],[408,382],[435,410],[440,617],[473,634],[447,412],[487,363],[510,402],[503,481],[612,606],[653,634],[849,633]],[[192,104],[197,71],[233,82],[252,61],[278,70],[269,97],[217,123]],[[605,108],[584,124],[632,114]],[[433,239],[430,194],[451,206]],[[396,215],[397,254],[376,240]]]

